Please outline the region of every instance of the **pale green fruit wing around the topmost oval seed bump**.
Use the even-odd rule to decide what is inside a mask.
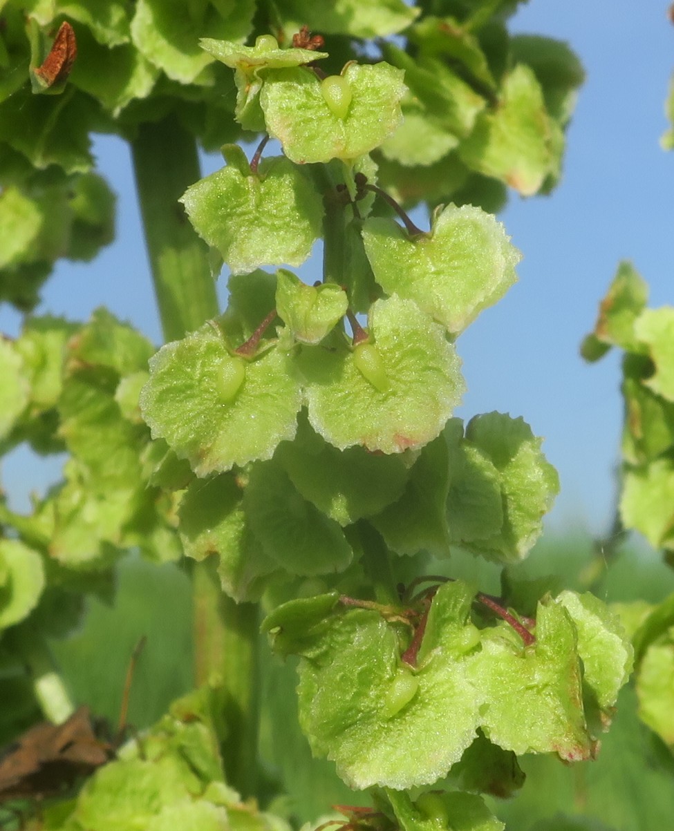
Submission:
[[[280,140],[296,164],[353,160],[369,153],[393,132],[401,119],[403,72],[386,63],[351,63],[343,80],[351,101],[337,115],[323,95],[321,81],[305,69],[270,71],[260,104],[270,135]]]

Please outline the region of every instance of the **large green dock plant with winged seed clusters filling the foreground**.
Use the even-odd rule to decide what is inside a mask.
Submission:
[[[575,57],[508,37],[512,3],[345,2],[319,20],[305,2],[140,0],[111,3],[105,21],[86,4],[52,5],[2,7],[17,60],[39,48],[22,40],[26,15],[42,37],[67,14],[82,56],[49,99],[60,106],[48,130],[14,65],[4,87],[17,84],[0,115],[42,128],[41,142],[0,130],[13,165],[0,209],[17,229],[12,204],[36,216],[4,263],[6,297],[31,306],[49,263],[70,256],[53,245],[35,264],[47,175],[68,204],[77,187],[102,204],[103,186],[97,196],[82,183],[87,128],[103,124],[131,140],[167,342],[155,352],[100,310],[83,327],[32,319],[2,343],[7,447],[70,457],[31,515],[2,505],[13,594],[0,622],[19,655],[55,626],[50,593],[86,591],[129,548],[184,553],[196,561],[201,685],[53,827],[244,822],[232,786],[261,793],[261,602],[271,647],[299,656],[312,752],[350,788],[372,789],[372,812],[347,810],[352,827],[503,828],[482,795],[521,787],[519,755],[592,758],[632,661],[592,595],[511,577],[494,597],[428,571],[453,547],[520,562],[558,490],[522,418],[464,425],[453,412],[465,388],[458,336],[513,285],[520,258],[485,208],[506,186],[553,187],[582,77]],[[126,75],[96,74],[103,56]],[[77,125],[79,154],[62,142]],[[236,142],[251,134],[261,140],[247,154]],[[204,179],[195,139],[222,145],[225,165]],[[428,228],[406,213],[420,201]],[[77,215],[64,214],[63,238]],[[319,239],[310,285],[292,269]],[[211,270],[223,264],[220,312]],[[27,269],[37,278],[19,297]],[[64,717],[65,695],[58,712],[40,695]],[[112,794],[139,781],[111,813]]]

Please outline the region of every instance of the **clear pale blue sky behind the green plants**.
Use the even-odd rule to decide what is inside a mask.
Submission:
[[[500,219],[523,253],[519,283],[458,341],[468,394],[458,415],[498,410],[524,416],[545,436],[562,493],[553,529],[602,533],[610,522],[613,468],[622,411],[619,358],[587,366],[578,356],[617,263],[631,259],[651,286],[654,306],[674,303],[674,154],[658,140],[674,69],[667,2],[530,0],[513,18],[517,32],[567,41],[587,71],[567,137],[564,175],[552,196],[512,196]],[[97,140],[99,167],[118,194],[116,243],[93,266],[60,263],[38,312],[86,319],[107,305],[157,343],[154,307],[128,150]],[[221,165],[205,160],[205,171]],[[221,297],[225,280],[221,278]],[[0,309],[0,330],[19,318]],[[19,494],[56,479],[58,463],[26,452],[3,465],[3,486]]]

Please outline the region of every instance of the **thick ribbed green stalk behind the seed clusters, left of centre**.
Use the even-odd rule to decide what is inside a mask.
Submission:
[[[176,340],[219,312],[207,249],[178,199],[201,178],[194,136],[175,116],[141,125],[131,143],[161,326]],[[216,681],[221,697],[225,772],[245,796],[255,795],[259,705],[258,612],[221,589],[215,566],[195,563],[195,681]]]

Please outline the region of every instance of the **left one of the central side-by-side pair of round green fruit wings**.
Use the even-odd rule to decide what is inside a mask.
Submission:
[[[300,385],[289,356],[271,349],[247,362],[232,397],[240,360],[206,323],[150,361],[143,416],[153,437],[166,439],[199,476],[269,459],[280,441],[295,435]]]

